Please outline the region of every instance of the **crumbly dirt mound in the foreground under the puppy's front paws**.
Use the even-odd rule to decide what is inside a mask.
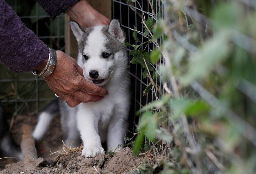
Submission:
[[[37,163],[43,162],[42,158],[38,158]],[[96,155],[94,158],[84,158],[81,152],[60,155],[60,165],[64,169],[45,167],[36,168],[33,170],[25,169],[24,162],[17,162],[8,164],[6,169],[0,171],[0,174],[39,174],[39,173],[127,173],[132,171],[134,167],[138,166],[143,161],[143,158],[134,156],[129,147],[121,149],[114,156],[109,154]],[[59,166],[60,166],[59,165]]]

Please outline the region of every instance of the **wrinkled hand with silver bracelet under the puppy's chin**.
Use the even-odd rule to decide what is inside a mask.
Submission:
[[[70,107],[75,107],[81,102],[93,102],[108,94],[105,88],[88,82],[83,76],[83,68],[75,59],[62,51],[56,51],[56,66],[51,75],[45,77],[50,89]],[[90,94],[91,93],[91,94]]]

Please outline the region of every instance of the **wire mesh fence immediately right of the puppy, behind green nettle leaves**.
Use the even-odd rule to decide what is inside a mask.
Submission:
[[[151,50],[156,49],[161,45],[162,40],[158,40],[157,42],[149,43],[150,38],[148,35],[145,35],[144,24],[143,21],[148,20],[149,18],[153,18],[152,27],[154,28],[154,24],[157,22],[156,13],[160,13],[162,15],[162,3],[160,1],[154,1],[151,4],[151,1],[141,0],[141,1],[121,1],[121,0],[112,0],[113,2],[113,18],[117,18],[120,20],[120,23],[125,30],[127,42],[137,45],[136,41],[132,37],[133,32],[136,28],[137,37],[141,43],[147,43],[142,45],[141,49],[146,52],[150,52]],[[152,28],[152,29],[153,29]],[[128,50],[131,51],[133,49],[132,46],[128,47]],[[130,61],[132,60],[132,56],[130,56]],[[158,72],[158,68],[163,64],[163,59],[156,63],[156,65],[150,64],[156,72]],[[148,87],[150,83],[150,79],[148,77],[144,78],[142,73],[145,71],[145,68],[139,64],[130,64],[130,74],[131,74],[131,91],[132,91],[132,106],[131,106],[131,116],[133,118],[132,131],[134,132],[136,129],[136,124],[140,119],[140,114],[136,115],[136,112],[140,110],[142,107],[146,106],[148,103],[153,102],[156,99],[161,99],[161,93],[164,92],[163,82],[160,76],[156,76],[156,84],[158,85],[159,90],[154,91],[154,88],[151,87],[148,93],[144,93],[145,89]],[[154,73],[151,74],[154,76]]]

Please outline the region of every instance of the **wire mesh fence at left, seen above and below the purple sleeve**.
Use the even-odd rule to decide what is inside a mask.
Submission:
[[[35,1],[6,1],[48,47],[64,51],[64,14],[52,19]],[[54,93],[43,78],[38,81],[31,72],[17,74],[0,64],[0,100],[8,115],[40,111]]]

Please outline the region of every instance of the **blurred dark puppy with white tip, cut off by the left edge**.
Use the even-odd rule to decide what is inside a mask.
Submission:
[[[12,138],[2,106],[0,106],[0,151],[7,157],[16,157],[22,160],[20,146]]]

